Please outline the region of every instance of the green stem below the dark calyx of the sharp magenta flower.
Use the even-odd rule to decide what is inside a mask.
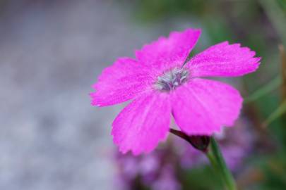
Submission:
[[[206,153],[206,156],[210,160],[210,163],[213,165],[216,172],[220,173],[227,190],[236,190],[237,186],[234,178],[232,177],[232,173],[225,164],[220,148],[213,137],[210,138],[210,150]]]

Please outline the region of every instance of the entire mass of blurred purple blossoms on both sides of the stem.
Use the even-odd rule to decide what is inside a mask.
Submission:
[[[232,172],[239,173],[254,148],[254,134],[248,120],[239,119],[234,129],[225,128],[220,134],[214,135],[227,166]],[[208,165],[208,159],[201,151],[176,136],[172,136],[168,143],[149,154],[133,156],[131,153],[122,154],[117,150],[114,154],[114,163],[118,169],[115,186],[124,190],[142,189],[134,188],[134,184],[152,190],[186,189],[181,174]]]

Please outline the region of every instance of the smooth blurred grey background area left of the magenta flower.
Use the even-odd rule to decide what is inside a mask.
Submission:
[[[117,57],[196,26],[138,25],[129,2],[0,1],[0,189],[114,189],[122,105],[90,106],[91,85]]]

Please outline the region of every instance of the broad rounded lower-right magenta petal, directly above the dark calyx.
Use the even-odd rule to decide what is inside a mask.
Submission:
[[[182,131],[211,135],[232,126],[242,108],[242,97],[228,84],[193,79],[171,94],[172,113]]]

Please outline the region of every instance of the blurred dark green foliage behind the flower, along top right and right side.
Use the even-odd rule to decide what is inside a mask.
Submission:
[[[286,189],[286,116],[282,114],[285,105],[282,105],[280,91],[282,77],[278,51],[278,44],[286,43],[286,0],[135,2],[133,10],[140,23],[166,23],[171,18],[187,18],[191,27],[202,27],[203,47],[199,45],[194,53],[227,40],[249,46],[263,58],[259,70],[241,81],[244,96],[252,94],[244,105],[243,114],[250,122],[256,120],[251,125],[257,141],[254,151],[248,156],[250,161],[242,171],[254,168],[261,172],[259,175],[262,177],[249,182],[244,189]],[[246,112],[248,106],[255,111],[255,117]],[[260,135],[261,131],[266,134]],[[237,174],[237,178],[241,175],[244,172]],[[210,167],[182,170],[179,176],[183,189],[223,189],[218,175]]]

